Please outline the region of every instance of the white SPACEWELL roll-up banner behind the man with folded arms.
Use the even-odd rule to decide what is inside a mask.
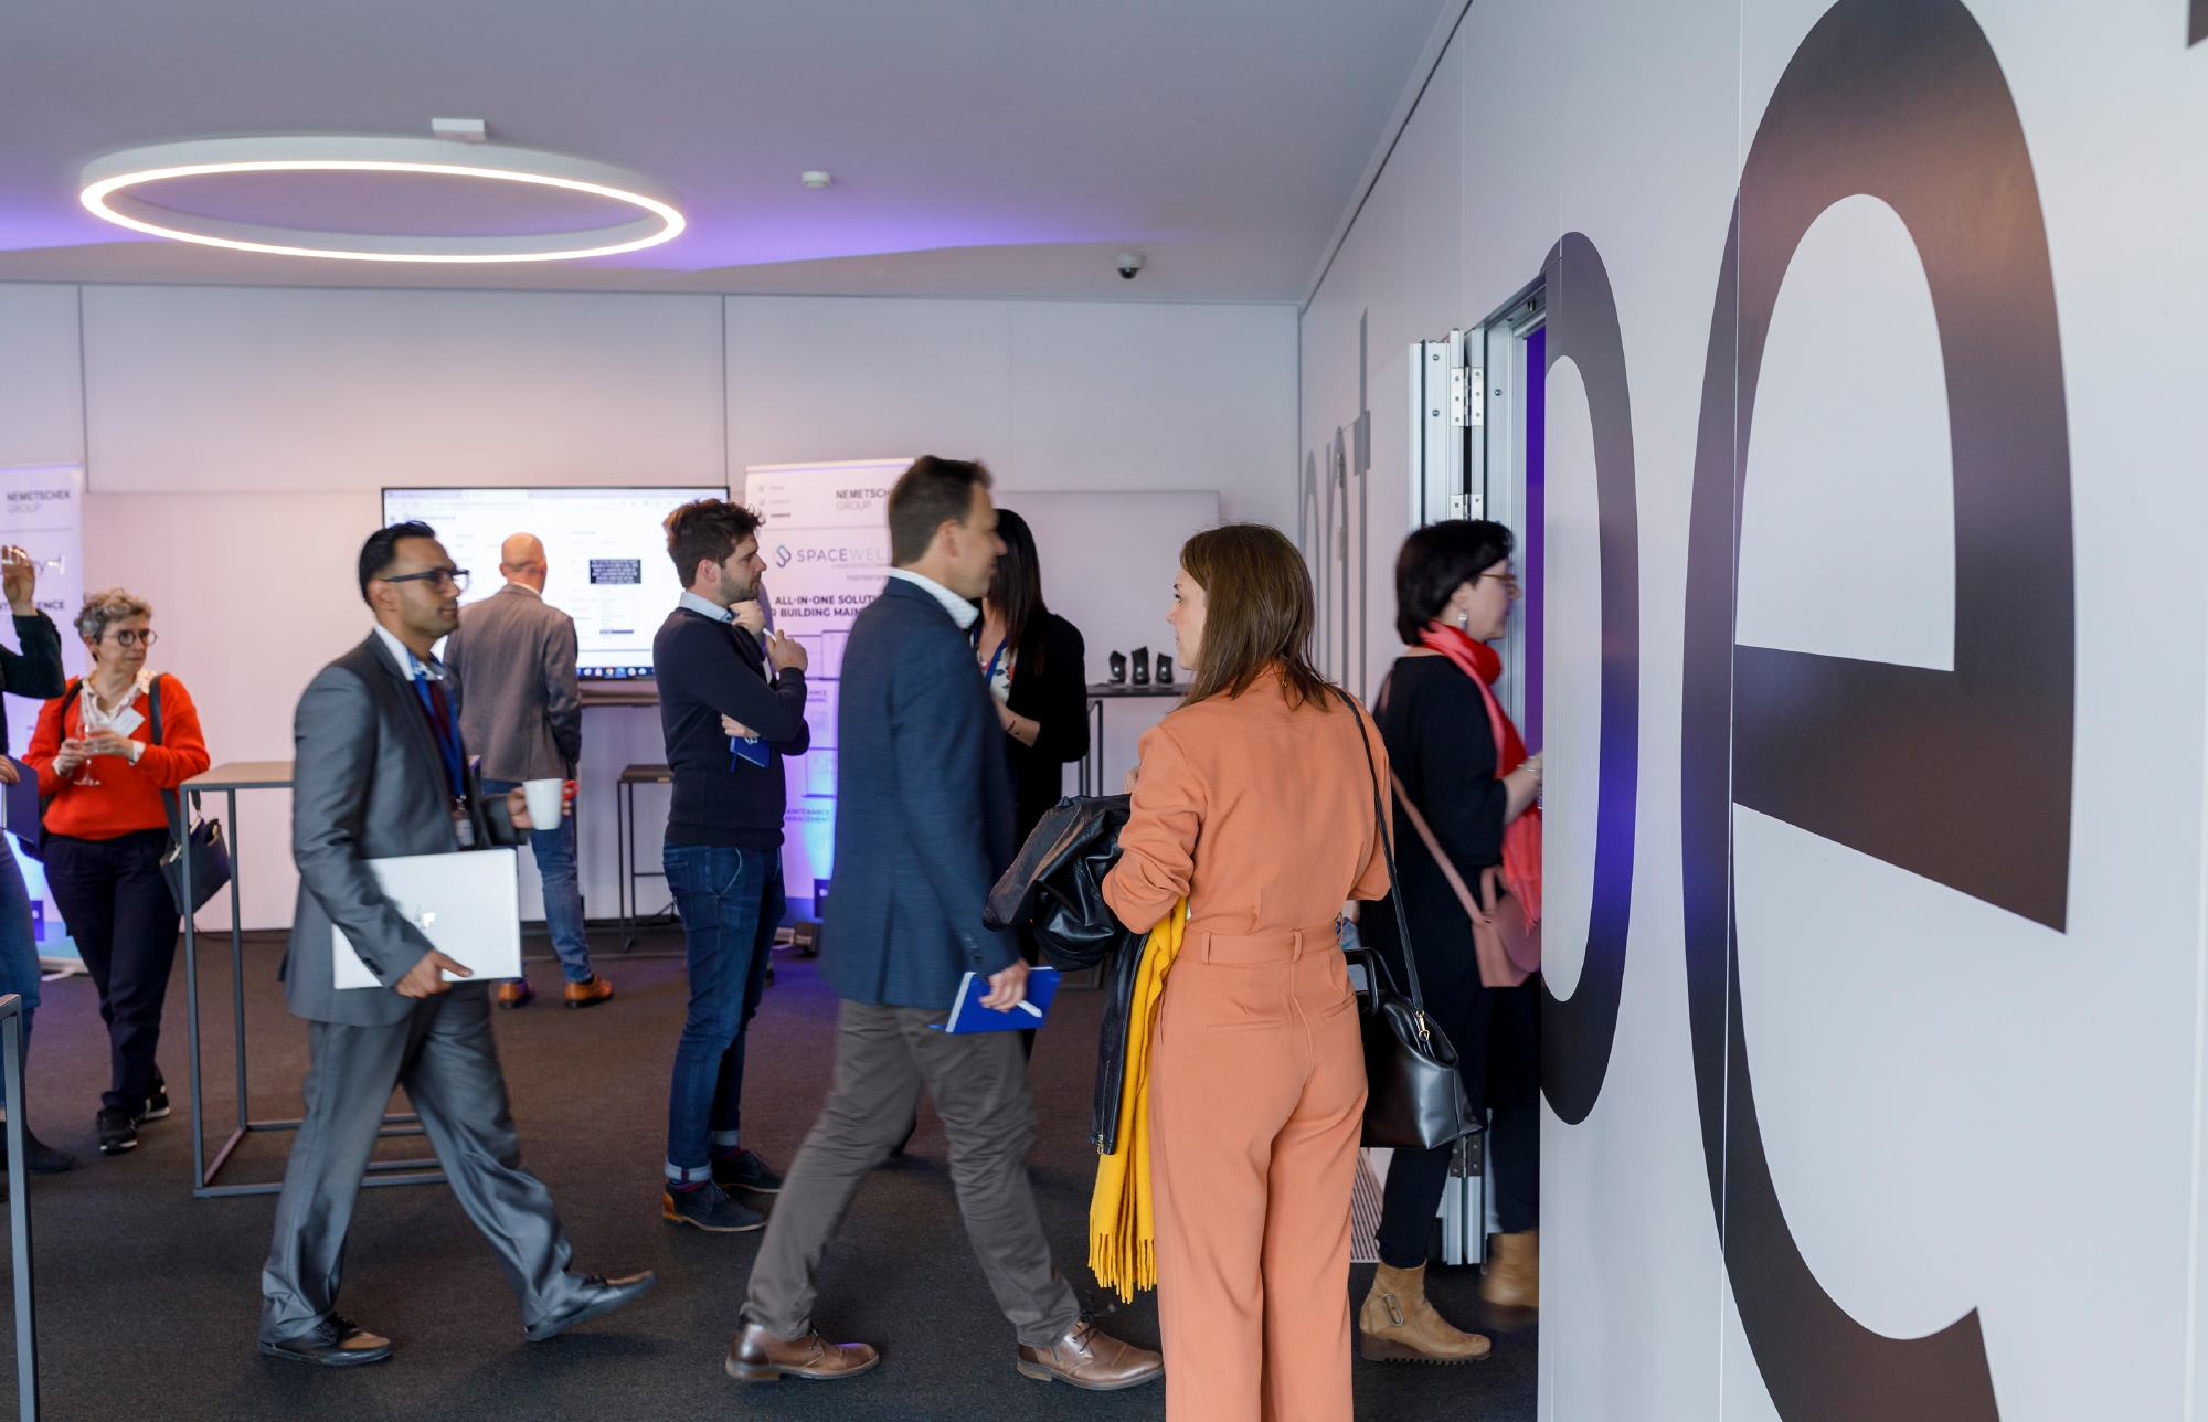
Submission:
[[[744,506],[760,514],[766,603],[775,632],[806,649],[813,749],[782,762],[782,885],[799,916],[819,916],[835,874],[835,713],[843,640],[890,572],[890,488],[912,459],[753,464]],[[810,912],[806,912],[810,905]]]

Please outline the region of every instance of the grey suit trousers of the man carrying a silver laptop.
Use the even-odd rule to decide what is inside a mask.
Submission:
[[[307,1119],[261,1270],[263,1343],[305,1334],[336,1307],[344,1230],[393,1086],[406,1086],[453,1195],[497,1252],[521,1325],[574,1303],[581,1278],[567,1274],[567,1234],[543,1184],[521,1168],[486,985],[424,998],[391,1027],[309,1022],[307,1047]]]

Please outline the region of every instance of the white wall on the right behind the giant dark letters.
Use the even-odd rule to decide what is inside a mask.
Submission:
[[[2020,115],[2029,172],[2011,168],[2009,181],[2038,185],[2060,311],[2076,539],[2069,910],[2060,927],[2031,923],[1735,810],[1729,890],[1755,1119],[1786,1228],[1861,1338],[1928,1336],[1976,1309],[2000,1418],[2208,1415],[2195,1382],[2208,1327],[2197,1307],[2208,152],[2190,137],[2208,124],[2208,44],[2186,49],[2182,9],[1482,0],[1303,318],[1312,453],[1358,413],[1358,322],[1369,325],[1384,570],[1406,521],[1404,347],[1477,322],[1565,232],[1601,250],[1616,296],[1641,559],[1632,934],[1601,1097],[1581,1124],[1550,1113],[1543,1126],[1543,1418],[1992,1415],[1906,1387],[1866,1402],[1872,1384],[1910,1376],[1879,1365],[1813,1409],[1773,1400],[1811,1345],[1791,1325],[1751,1345],[1735,1305],[1733,1278],[1771,1261],[1735,1256],[1729,1272],[1711,1208],[1680,843],[1687,532],[1735,190],[1780,75],[1819,20],[1912,33],[1956,13],[1983,26]],[[2000,119],[1998,104],[1970,102],[1985,124]],[[1888,161],[1941,152],[1897,132]],[[1970,331],[1921,320],[1921,267],[1897,265],[1881,223],[1839,214],[1786,272],[1747,506],[1727,514],[1747,528],[1738,640],[1941,667],[1956,625],[1930,607],[1952,596],[1956,556],[1941,523],[1954,517],[1941,340]],[[1987,267],[1996,250],[1985,247]],[[1713,378],[1731,382],[1733,369]],[[1577,378],[1550,382],[1552,422],[1570,391]],[[1552,479],[1574,477],[1585,470],[1552,464]],[[1395,643],[1384,572],[1373,576],[1378,673]],[[2025,559],[2014,576],[2029,587],[2058,570]],[[1888,596],[1894,587],[1906,594]],[[1552,707],[1594,685],[1599,647],[1568,634],[1550,620]],[[1897,755],[1910,735],[1897,735]],[[1804,764],[1826,753],[1800,746]],[[1548,760],[1552,797],[1583,795],[1592,762],[1557,746]],[[1939,790],[1872,773],[1861,795],[1910,817]],[[1583,896],[1590,866],[1554,839],[1550,923],[1585,925],[1585,905],[1554,894]],[[1565,989],[1581,980],[1581,952],[1563,934],[1548,943]],[[1738,1179],[1720,1181],[1727,1201]]]

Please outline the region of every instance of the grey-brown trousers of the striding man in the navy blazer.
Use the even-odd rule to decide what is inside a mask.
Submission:
[[[921,1089],[943,1117],[952,1186],[967,1239],[1020,1343],[1047,1347],[1082,1314],[1073,1285],[1051,1265],[1051,1245],[1027,1181],[1036,1102],[1027,1055],[1009,1031],[930,1031],[949,1014],[923,1007],[843,1002],[835,1086],[813,1135],[797,1150],[751,1265],[744,1314],[777,1338],[813,1329],[813,1276],[843,1223],[859,1181],[890,1157],[912,1126]]]

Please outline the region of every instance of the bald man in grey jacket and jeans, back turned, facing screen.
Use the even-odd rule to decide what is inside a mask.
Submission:
[[[506,587],[459,609],[459,632],[444,640],[444,665],[468,689],[461,737],[484,757],[484,790],[501,795],[526,779],[574,779],[583,760],[583,693],[574,673],[574,618],[545,603],[545,545],[514,534],[499,548]],[[545,930],[567,978],[567,1007],[614,996],[590,969],[583,888],[574,868],[574,817],[530,832],[545,894]],[[526,1007],[528,978],[499,985],[499,1007]]]

